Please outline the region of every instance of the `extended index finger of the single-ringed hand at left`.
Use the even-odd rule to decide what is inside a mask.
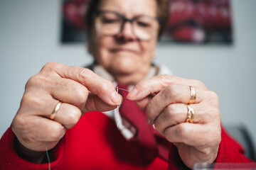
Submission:
[[[62,78],[77,81],[91,91],[92,94],[96,94],[102,101],[111,106],[116,106],[121,103],[121,98],[117,94],[117,91],[115,91],[113,84],[98,76],[90,69],[55,62],[46,64],[44,69],[51,69]]]

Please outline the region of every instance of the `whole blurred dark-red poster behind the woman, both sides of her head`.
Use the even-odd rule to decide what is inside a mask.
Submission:
[[[91,0],[63,0],[61,42],[86,41],[83,16]],[[232,44],[230,0],[172,0],[162,42]]]

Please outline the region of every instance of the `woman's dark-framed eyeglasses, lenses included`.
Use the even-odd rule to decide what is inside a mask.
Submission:
[[[152,16],[136,16],[132,19],[126,18],[114,11],[96,11],[95,27],[102,35],[118,35],[122,33],[124,24],[132,24],[132,33],[139,40],[151,40],[158,34],[160,27],[159,18]]]

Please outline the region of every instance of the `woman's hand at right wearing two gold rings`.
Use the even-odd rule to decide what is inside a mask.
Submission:
[[[196,101],[191,104],[193,123],[186,123],[190,86],[196,90]],[[146,122],[176,145],[186,166],[215,161],[221,138],[218,96],[203,83],[160,75],[139,82],[127,98],[137,101],[146,111]]]

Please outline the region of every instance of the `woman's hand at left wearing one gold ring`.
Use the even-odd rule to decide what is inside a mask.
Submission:
[[[63,103],[50,120],[59,101]],[[28,80],[11,128],[27,149],[46,151],[46,142],[48,149],[55,147],[82,113],[110,111],[119,103],[110,81],[89,69],[50,62]]]

